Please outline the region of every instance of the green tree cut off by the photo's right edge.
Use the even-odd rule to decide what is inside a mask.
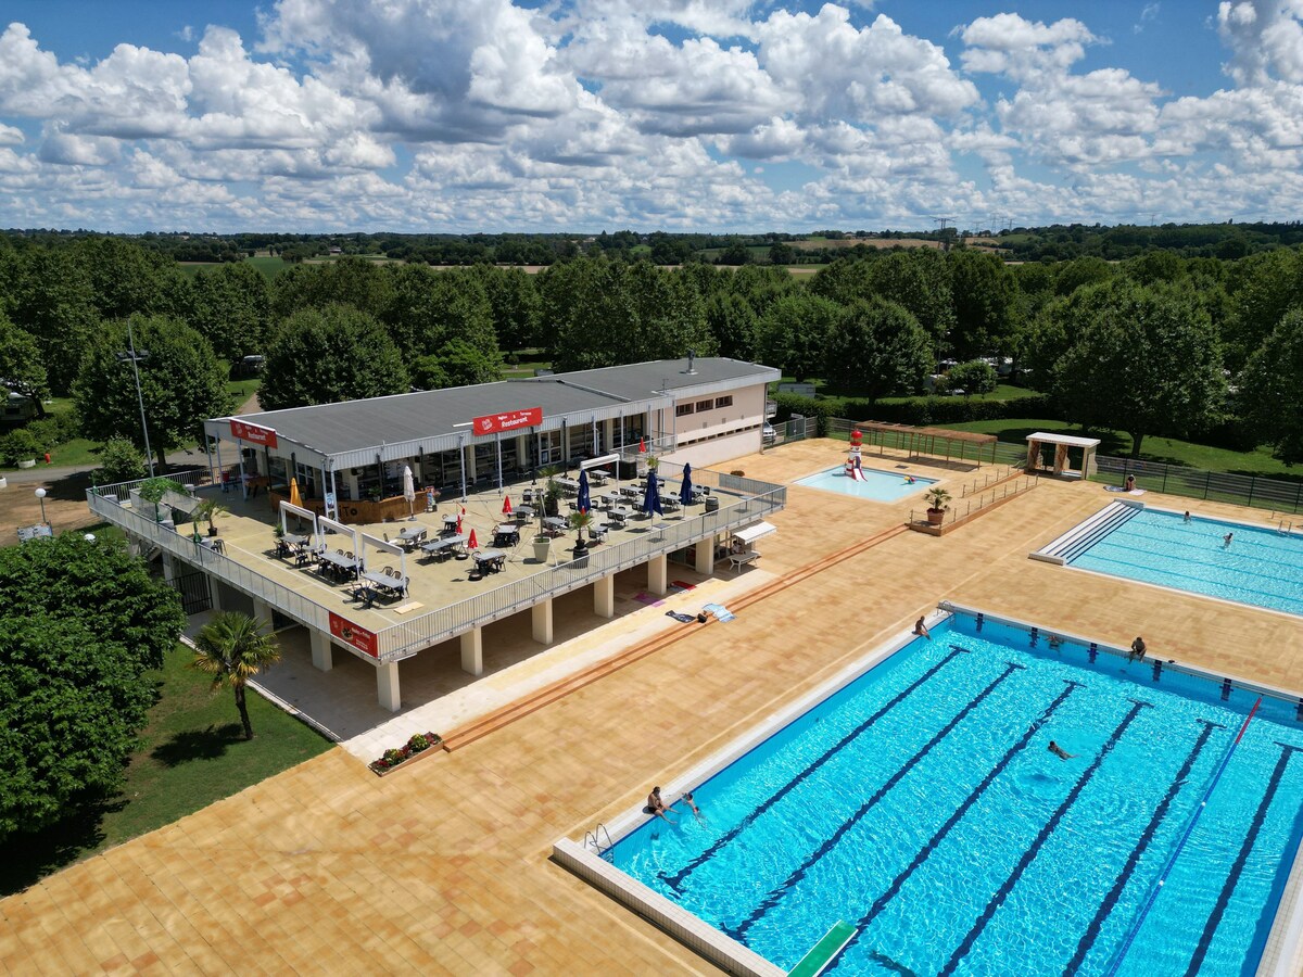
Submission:
[[[1303,309],[1293,309],[1239,376],[1246,419],[1286,465],[1303,461]]]

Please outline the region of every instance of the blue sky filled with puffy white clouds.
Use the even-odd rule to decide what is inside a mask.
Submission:
[[[0,224],[1296,219],[1303,0],[17,3]]]

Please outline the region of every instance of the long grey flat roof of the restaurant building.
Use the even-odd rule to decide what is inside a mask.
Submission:
[[[474,417],[541,406],[542,430],[559,427],[560,418],[579,416],[585,421],[603,421],[620,413],[668,405],[676,395],[719,384],[739,382],[767,383],[779,371],[770,366],[740,360],[706,357],[696,360],[688,373],[688,360],[657,360],[598,370],[550,374],[524,379],[481,383],[473,387],[399,393],[369,400],[268,410],[212,418],[206,423],[215,436],[229,439],[228,422],[242,421],[276,431],[278,438],[309,448],[323,457],[352,452],[378,451],[382,447],[420,444],[423,451],[455,447],[463,427]],[[551,418],[551,422],[549,422]],[[451,444],[450,444],[451,442]]]

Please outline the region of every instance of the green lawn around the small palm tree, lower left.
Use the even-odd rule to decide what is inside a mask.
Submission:
[[[162,671],[150,673],[159,700],[128,766],[121,796],[73,823],[0,845],[0,894],[21,891],[51,871],[169,825],[331,748],[253,693],[249,715],[255,736],[246,743],[231,689],[211,693],[208,680],[188,667],[190,657],[189,649],[177,645]]]

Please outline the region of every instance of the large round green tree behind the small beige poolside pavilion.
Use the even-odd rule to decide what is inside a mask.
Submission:
[[[1184,438],[1221,417],[1226,393],[1217,335],[1190,289],[1127,279],[1095,285],[1075,306],[1072,344],[1053,389],[1068,417],[1131,435]]]

